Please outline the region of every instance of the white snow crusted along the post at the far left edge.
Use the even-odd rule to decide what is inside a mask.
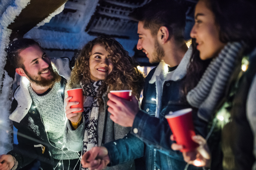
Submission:
[[[0,155],[7,153],[12,149],[12,122],[9,120],[11,109],[11,93],[12,93],[12,78],[4,71],[6,65],[6,51],[4,50],[9,45],[9,37],[12,30],[7,27],[20,14],[30,0],[1,0],[0,3],[0,85],[3,88],[0,92]],[[11,6],[10,6],[11,5]],[[6,9],[6,10],[5,10]],[[5,10],[5,11],[4,11]],[[3,79],[3,75],[5,75]],[[8,133],[7,133],[8,132]]]

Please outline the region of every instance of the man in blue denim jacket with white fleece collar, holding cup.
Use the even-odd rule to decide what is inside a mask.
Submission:
[[[82,156],[81,163],[100,170],[144,156],[147,170],[183,170],[186,162],[182,153],[171,149],[172,131],[164,116],[169,111],[190,108],[181,91],[192,54],[183,39],[185,11],[176,0],[152,0],[135,9],[131,17],[139,21],[137,49],[147,55],[149,62],[160,64],[145,79],[141,108],[135,96],[126,101],[108,94],[111,119],[131,127],[131,133],[103,147],[94,147]],[[196,115],[194,118],[197,133],[204,136],[204,123]],[[188,169],[201,167],[190,165]]]

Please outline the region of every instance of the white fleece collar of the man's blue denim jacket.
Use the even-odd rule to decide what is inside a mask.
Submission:
[[[166,77],[166,75],[168,74],[168,65],[164,61],[161,61],[159,65],[157,65],[157,68],[154,71],[154,74],[151,77],[149,83],[153,84],[154,82],[156,82],[157,80],[156,77],[163,77],[163,79],[172,80],[172,81],[183,79],[183,77],[185,77],[186,75],[186,68],[187,68],[187,65],[189,64],[189,59],[191,57],[191,54],[192,54],[192,46],[190,46],[188,51],[186,51],[183,59],[180,61],[180,64],[172,74],[172,77],[168,77],[168,76]]]

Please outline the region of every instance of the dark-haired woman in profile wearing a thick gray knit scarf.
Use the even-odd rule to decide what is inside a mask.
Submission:
[[[198,109],[198,116],[209,123],[209,134],[206,139],[193,138],[201,144],[195,154],[183,153],[191,164],[198,164],[200,160],[201,164],[210,166],[208,144],[212,170],[250,170],[253,167],[253,147],[256,151],[256,142],[253,143],[253,136],[256,136],[255,9],[255,1],[249,0],[199,0],[196,5],[195,25],[190,35],[195,39],[197,50],[194,49],[189,63],[184,90],[189,104]],[[202,76],[199,80],[191,75]],[[173,144],[172,148],[183,147]]]

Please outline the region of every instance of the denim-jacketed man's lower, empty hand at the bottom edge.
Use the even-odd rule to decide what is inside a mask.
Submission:
[[[108,150],[105,147],[93,147],[84,153],[81,160],[82,166],[90,167],[90,170],[102,170],[107,167],[109,162]]]

